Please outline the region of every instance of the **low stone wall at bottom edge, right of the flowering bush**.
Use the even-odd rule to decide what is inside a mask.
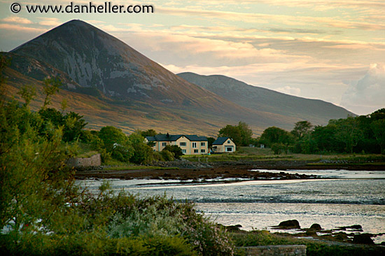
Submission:
[[[306,256],[306,246],[250,246],[237,250],[245,256]]]

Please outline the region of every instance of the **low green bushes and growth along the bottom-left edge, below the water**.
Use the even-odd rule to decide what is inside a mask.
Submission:
[[[1,255],[233,255],[228,235],[193,204],[107,189],[82,194],[43,229],[3,232]]]

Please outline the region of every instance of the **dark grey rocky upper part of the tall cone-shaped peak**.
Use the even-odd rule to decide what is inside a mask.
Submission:
[[[95,87],[114,99],[181,106],[212,106],[202,100],[207,98],[223,101],[80,20],[66,22],[11,52],[46,62],[82,87]]]

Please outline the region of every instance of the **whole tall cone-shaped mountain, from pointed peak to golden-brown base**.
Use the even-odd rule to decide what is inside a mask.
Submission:
[[[10,91],[31,83],[41,92],[45,76],[59,76],[64,90],[53,106],[59,107],[64,97],[71,99],[69,111],[84,115],[95,129],[114,125],[127,132],[152,128],[163,133],[216,136],[225,125],[239,121],[261,134],[273,125],[292,129],[302,120],[300,115],[250,108],[225,99],[80,20],[66,22],[3,54],[12,58],[6,70]]]

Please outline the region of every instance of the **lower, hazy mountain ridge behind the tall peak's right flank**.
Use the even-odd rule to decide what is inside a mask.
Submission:
[[[309,120],[314,125],[325,125],[330,119],[346,118],[347,115],[355,116],[346,109],[329,102],[295,97],[247,85],[227,76],[201,76],[190,72],[179,73],[178,76],[240,106]]]

